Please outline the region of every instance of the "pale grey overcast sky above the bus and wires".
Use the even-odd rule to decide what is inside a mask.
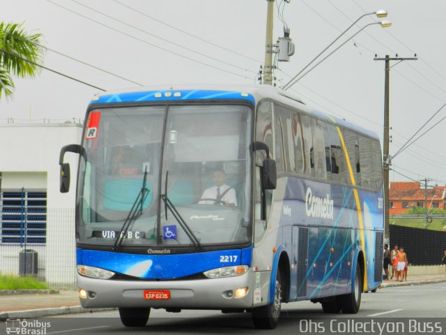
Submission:
[[[370,128],[382,139],[384,61],[374,61],[374,55],[416,53],[417,61],[391,63],[390,154],[446,102],[446,1],[291,0],[279,5],[274,38],[283,36],[282,13],[295,55],[278,64],[277,86],[289,82],[360,15],[388,11],[385,19],[362,18],[339,43],[374,21],[390,20],[392,27],[365,28],[291,89],[316,109]],[[55,51],[46,52],[45,66],[106,90],[249,84],[256,82],[264,59],[266,0],[0,0],[0,8],[0,20],[24,22],[27,31],[43,34],[43,44]],[[99,91],[47,70],[15,84],[13,98],[0,101],[1,123],[84,119]],[[426,129],[443,117],[446,107]],[[434,179],[430,184],[445,185],[445,128],[443,121],[397,156],[391,181],[427,177]]]

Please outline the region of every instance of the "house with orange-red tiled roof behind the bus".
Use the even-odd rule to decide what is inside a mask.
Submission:
[[[413,207],[424,207],[426,198],[428,209],[446,209],[446,186],[428,187],[417,181],[395,181],[390,183],[389,214],[404,214]]]

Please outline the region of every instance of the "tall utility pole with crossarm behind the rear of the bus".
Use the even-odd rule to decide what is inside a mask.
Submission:
[[[390,61],[416,61],[417,55],[412,58],[389,57],[388,54],[385,58],[378,58],[375,55],[375,61],[385,61],[385,79],[384,79],[384,143],[383,143],[383,183],[384,183],[384,239],[387,244],[390,245],[390,233],[389,233],[389,169],[392,165],[392,160],[389,155],[389,101],[390,101]],[[398,64],[398,63],[397,63]],[[395,64],[396,65],[396,64]]]

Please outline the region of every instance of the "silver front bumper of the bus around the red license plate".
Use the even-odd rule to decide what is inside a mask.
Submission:
[[[79,289],[87,291],[80,298],[86,308],[95,307],[153,307],[225,309],[253,306],[254,273],[252,269],[241,276],[208,278],[187,281],[118,281],[77,275]],[[230,296],[238,288],[249,288],[243,298]],[[146,300],[144,290],[169,290],[169,300]],[[91,292],[94,294],[92,295]],[[94,297],[93,297],[94,296]]]

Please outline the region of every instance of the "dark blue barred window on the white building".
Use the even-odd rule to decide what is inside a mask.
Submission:
[[[47,191],[0,192],[0,241],[2,244],[45,244]]]

